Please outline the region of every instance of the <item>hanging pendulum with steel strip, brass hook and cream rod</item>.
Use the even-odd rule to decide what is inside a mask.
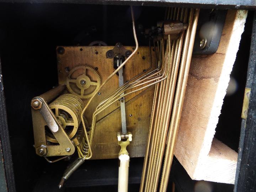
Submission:
[[[117,67],[122,65],[122,58],[117,59]],[[119,75],[119,87],[123,86],[123,67],[118,71]],[[121,94],[121,96],[124,95]],[[129,132],[127,134],[126,130],[126,111],[124,97],[120,99],[120,109],[121,109],[121,122],[122,122],[122,133],[117,133],[118,145],[120,145],[121,150],[118,154],[119,169],[118,169],[118,192],[128,191],[128,175],[129,175],[129,153],[126,150],[127,145],[132,141],[132,134]]]

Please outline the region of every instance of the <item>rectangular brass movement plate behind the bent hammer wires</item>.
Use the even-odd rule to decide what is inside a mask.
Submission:
[[[65,83],[69,73],[68,69],[71,70],[77,65],[87,64],[93,68],[98,68],[97,72],[100,74],[101,82],[104,82],[115,70],[113,68],[113,59],[106,58],[106,52],[113,49],[114,46],[64,46],[63,48],[65,49],[64,53],[57,53],[59,84]],[[134,47],[125,46],[125,48],[133,50]],[[154,55],[154,52],[152,52],[152,55]],[[149,66],[149,48],[139,47],[138,54],[136,53],[125,65],[123,70],[124,82],[142,73],[142,71],[148,69]],[[153,66],[155,66],[154,56]],[[85,112],[85,117],[89,125],[91,125],[92,113],[97,104],[116,90],[118,86],[118,76],[114,75],[113,78],[102,87],[100,94],[94,97]],[[67,90],[64,93],[67,93]],[[132,132],[133,134],[133,140],[127,147],[130,157],[142,157],[145,154],[153,97],[154,86],[128,95],[125,98],[127,132]],[[85,104],[87,101],[88,100],[83,100]],[[92,144],[92,159],[118,158],[120,146],[117,144],[117,132],[121,130],[120,102],[117,101],[105,111],[98,114]]]

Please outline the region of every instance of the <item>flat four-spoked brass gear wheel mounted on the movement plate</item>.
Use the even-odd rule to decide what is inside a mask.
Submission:
[[[68,91],[81,99],[92,97],[100,85],[100,75],[89,65],[75,66],[69,71],[69,75],[66,78]]]

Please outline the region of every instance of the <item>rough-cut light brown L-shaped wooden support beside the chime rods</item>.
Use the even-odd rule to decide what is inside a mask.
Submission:
[[[212,140],[246,16],[229,10],[217,52],[191,61],[175,156],[195,180],[234,183],[237,153]]]

